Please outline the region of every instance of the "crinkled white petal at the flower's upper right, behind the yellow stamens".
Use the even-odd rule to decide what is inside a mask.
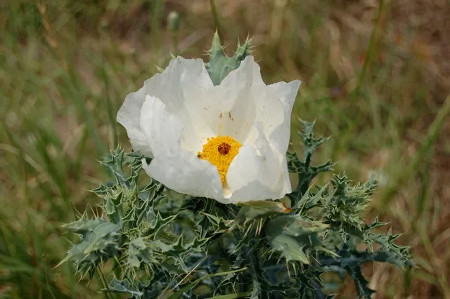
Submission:
[[[253,128],[262,124],[262,130],[271,144],[280,152],[288,150],[290,139],[290,115],[297,95],[300,81],[278,82],[266,86],[262,81],[259,65],[252,56],[245,58],[238,69],[214,86],[214,93],[221,103],[219,115],[211,114],[216,126],[222,129],[219,134],[231,135],[243,143],[255,141]]]

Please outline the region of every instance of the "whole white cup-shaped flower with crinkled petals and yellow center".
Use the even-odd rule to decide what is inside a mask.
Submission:
[[[286,151],[300,81],[266,86],[248,56],[213,86],[200,59],[173,59],[127,95],[117,121],[146,173],[176,192],[225,204],[291,192]]]

